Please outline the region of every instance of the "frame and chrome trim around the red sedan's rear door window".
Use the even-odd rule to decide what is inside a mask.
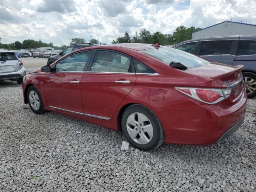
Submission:
[[[118,54],[121,54],[121,55],[124,55],[128,58],[130,58],[130,65],[131,65],[131,68],[132,68],[132,72],[102,72],[102,71],[90,71],[91,68],[92,68],[92,62],[96,56],[96,53],[97,51],[109,51],[109,52],[115,52],[115,53],[118,53]],[[111,50],[111,49],[95,49],[94,50],[94,53],[92,54],[91,56],[91,59],[90,59],[90,62],[87,66],[87,69],[86,69],[86,72],[90,72],[90,73],[103,73],[103,74],[108,74],[108,73],[111,73],[111,74],[135,74],[135,68],[134,68],[134,64],[133,64],[133,60],[132,60],[132,56],[128,55],[128,54],[125,54],[123,52],[120,52],[120,51],[116,51],[116,50]]]

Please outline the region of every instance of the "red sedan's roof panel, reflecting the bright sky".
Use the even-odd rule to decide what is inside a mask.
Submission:
[[[136,51],[144,50],[144,49],[150,49],[154,48],[152,44],[144,44],[144,43],[117,43],[117,44],[107,44],[107,45],[98,45],[95,46],[95,49],[98,48],[111,48],[111,47],[122,47],[122,48],[130,48]],[[160,46],[160,47],[165,47],[165,46]]]

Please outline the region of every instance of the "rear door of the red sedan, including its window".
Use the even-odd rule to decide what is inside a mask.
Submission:
[[[84,114],[108,120],[134,88],[132,58],[112,50],[96,50],[82,78]]]

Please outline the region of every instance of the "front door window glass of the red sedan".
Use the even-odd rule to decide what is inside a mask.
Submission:
[[[92,51],[79,52],[72,54],[55,66],[55,72],[65,72],[65,71],[84,71],[84,66],[90,57]]]

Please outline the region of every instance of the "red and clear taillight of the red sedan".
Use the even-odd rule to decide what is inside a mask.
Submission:
[[[230,96],[231,88],[228,89],[207,89],[175,87],[175,89],[189,97],[207,104],[216,104]]]

